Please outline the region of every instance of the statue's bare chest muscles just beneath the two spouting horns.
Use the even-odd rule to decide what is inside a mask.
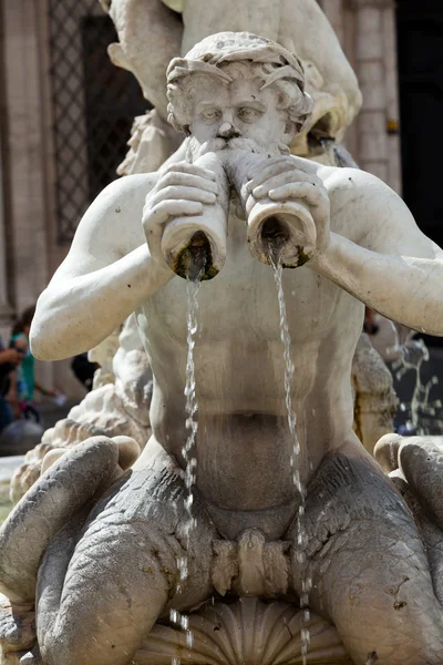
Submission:
[[[331,325],[343,291],[308,268],[285,269],[284,299],[292,341],[322,335]],[[143,307],[148,328],[161,326],[169,336],[186,338],[193,289],[175,277]],[[250,255],[246,237],[230,238],[222,272],[198,288],[198,325],[206,340],[223,341],[245,331],[254,339],[278,340],[280,304],[270,266]]]

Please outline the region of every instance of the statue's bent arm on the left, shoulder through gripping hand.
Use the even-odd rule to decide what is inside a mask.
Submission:
[[[70,253],[37,304],[31,350],[60,360],[97,346],[175,275],[161,243],[177,217],[216,202],[212,171],[177,162],[112,183],[86,211]]]

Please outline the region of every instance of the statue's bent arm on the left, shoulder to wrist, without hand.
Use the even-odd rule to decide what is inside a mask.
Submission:
[[[142,213],[156,175],[126,176],[104,190],[79,224],[71,249],[37,304],[31,349],[41,360],[89,350],[174,273],[156,262]]]

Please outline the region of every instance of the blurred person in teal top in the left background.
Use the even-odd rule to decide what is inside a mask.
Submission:
[[[56,397],[55,390],[48,389],[34,377],[34,357],[29,348],[29,331],[35,313],[35,306],[28,307],[12,328],[10,347],[21,357],[21,362],[12,377],[12,390],[10,391],[10,403],[16,413],[24,418],[40,421],[40,413],[34,403],[34,391],[38,390],[45,397]],[[12,393],[12,395],[11,395]]]

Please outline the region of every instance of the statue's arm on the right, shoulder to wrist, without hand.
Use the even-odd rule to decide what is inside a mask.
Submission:
[[[385,317],[443,336],[442,249],[377,177],[351,168],[332,177],[340,184],[331,196],[331,232],[307,266]]]

